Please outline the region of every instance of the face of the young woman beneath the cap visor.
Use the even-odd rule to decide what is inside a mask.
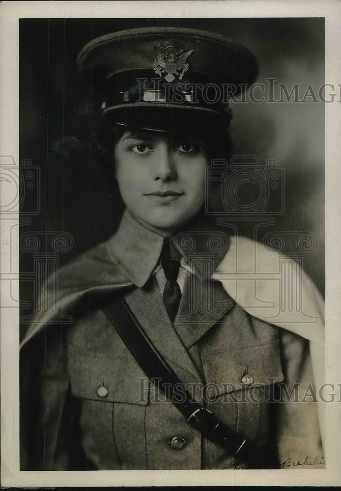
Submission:
[[[127,131],[114,151],[116,178],[128,210],[157,228],[176,229],[194,218],[205,199],[203,140]]]

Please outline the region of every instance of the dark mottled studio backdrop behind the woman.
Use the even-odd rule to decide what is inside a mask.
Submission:
[[[77,74],[76,57],[97,36],[147,26],[198,28],[240,42],[259,62],[256,82],[265,83],[265,93],[255,91],[257,98],[268,93],[265,78],[278,79],[289,92],[299,83],[302,96],[308,84],[317,93],[324,83],[323,18],[20,19],[20,158],[40,174],[40,183],[35,181],[30,190],[24,176],[22,211],[30,221],[21,226],[21,234],[43,237],[42,253],[51,252],[48,238],[53,235],[46,232],[70,234],[73,246],[59,254],[60,266],[110,237],[122,211],[115,184],[103,179],[90,148],[97,108],[91,89]],[[284,214],[270,216],[274,223],[260,227],[256,239],[269,232],[294,232],[283,235],[283,252],[296,253],[297,237],[314,234],[316,244],[312,239],[303,247],[303,267],[324,294],[324,104],[307,101],[234,103],[231,137],[235,154],[257,155],[262,164],[274,160],[284,168]],[[269,210],[276,211],[281,200],[272,192]],[[238,223],[239,233],[249,237],[254,227],[252,220]],[[21,272],[29,273],[34,253],[24,249]],[[23,281],[21,300],[33,300],[33,292],[33,282]],[[31,311],[22,309],[22,315]]]

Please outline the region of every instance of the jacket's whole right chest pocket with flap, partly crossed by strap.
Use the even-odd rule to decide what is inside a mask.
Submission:
[[[272,384],[284,380],[279,341],[222,351],[202,357],[208,408],[234,433],[265,446],[271,435],[268,404]],[[235,459],[206,440],[206,453],[219,468]]]

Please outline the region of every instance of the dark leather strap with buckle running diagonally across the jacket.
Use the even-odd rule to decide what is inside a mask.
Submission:
[[[189,426],[224,447],[237,461],[248,464],[250,468],[262,468],[261,447],[230,430],[211,411],[200,406],[192,398],[143,331],[124,299],[115,300],[111,305],[103,308],[103,312],[146,377],[152,383],[158,380],[157,388],[181,412]],[[182,397],[179,397],[179,393]],[[269,468],[268,463],[267,468]]]

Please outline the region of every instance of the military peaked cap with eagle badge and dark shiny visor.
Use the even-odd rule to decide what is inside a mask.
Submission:
[[[230,94],[257,75],[255,56],[212,32],[147,27],[98,37],[78,67],[103,92],[103,114],[116,123],[162,129],[182,123],[228,122]]]

